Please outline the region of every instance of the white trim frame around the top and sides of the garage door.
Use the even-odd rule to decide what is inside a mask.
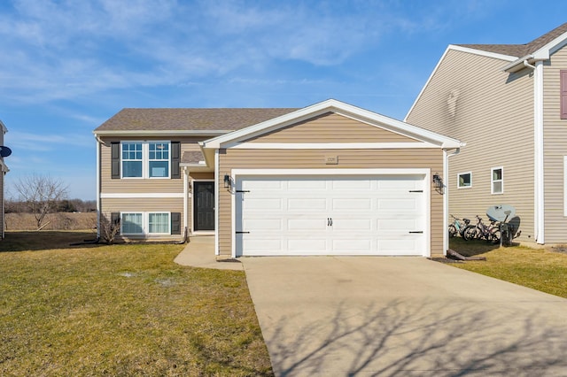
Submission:
[[[424,246],[425,250],[423,252],[424,257],[431,256],[431,185],[427,182],[431,181],[431,169],[428,168],[399,168],[399,169],[233,169],[232,170],[232,181],[237,182],[243,176],[314,176],[314,175],[326,175],[326,176],[341,176],[341,175],[367,175],[367,176],[379,176],[379,175],[423,175],[424,185],[423,185],[423,195],[424,195],[424,215],[425,215],[425,229],[424,229]],[[242,216],[242,213],[237,213],[237,197],[232,195],[231,199],[231,240],[232,240],[232,250],[231,254],[233,258],[237,257],[237,217]]]

